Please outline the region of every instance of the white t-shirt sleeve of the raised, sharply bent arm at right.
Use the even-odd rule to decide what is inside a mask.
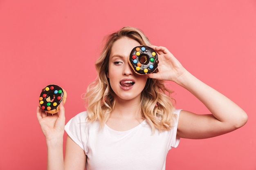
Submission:
[[[179,120],[179,116],[180,116],[180,111],[182,109],[177,109],[174,111],[174,114],[177,115],[176,119],[175,119],[175,124],[173,126],[173,128],[171,129],[171,134],[170,134],[170,147],[171,148],[176,148],[179,143],[180,143],[180,138],[177,138],[177,128],[178,128],[178,120]]]

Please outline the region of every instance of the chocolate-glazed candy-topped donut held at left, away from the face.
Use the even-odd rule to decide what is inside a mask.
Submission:
[[[47,113],[57,113],[59,110],[59,104],[63,101],[66,102],[67,93],[66,91],[55,84],[50,84],[43,88],[40,97],[39,104],[42,110]]]

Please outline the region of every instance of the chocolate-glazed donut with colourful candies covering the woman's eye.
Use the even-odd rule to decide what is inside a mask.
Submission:
[[[154,72],[158,63],[157,52],[148,46],[136,46],[130,53],[129,64],[139,75]]]

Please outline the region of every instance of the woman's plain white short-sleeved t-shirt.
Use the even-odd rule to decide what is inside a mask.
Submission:
[[[169,131],[152,130],[144,120],[127,131],[116,131],[99,122],[88,124],[87,112],[81,112],[65,125],[65,131],[87,155],[87,170],[165,170],[168,150],[176,148],[177,119]]]

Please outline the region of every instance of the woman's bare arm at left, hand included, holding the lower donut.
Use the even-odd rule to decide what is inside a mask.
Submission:
[[[65,161],[63,160],[63,134],[65,109],[60,104],[60,111],[47,116],[38,106],[37,118],[45,135],[47,145],[47,170],[85,170],[86,155],[83,149],[67,136]]]

